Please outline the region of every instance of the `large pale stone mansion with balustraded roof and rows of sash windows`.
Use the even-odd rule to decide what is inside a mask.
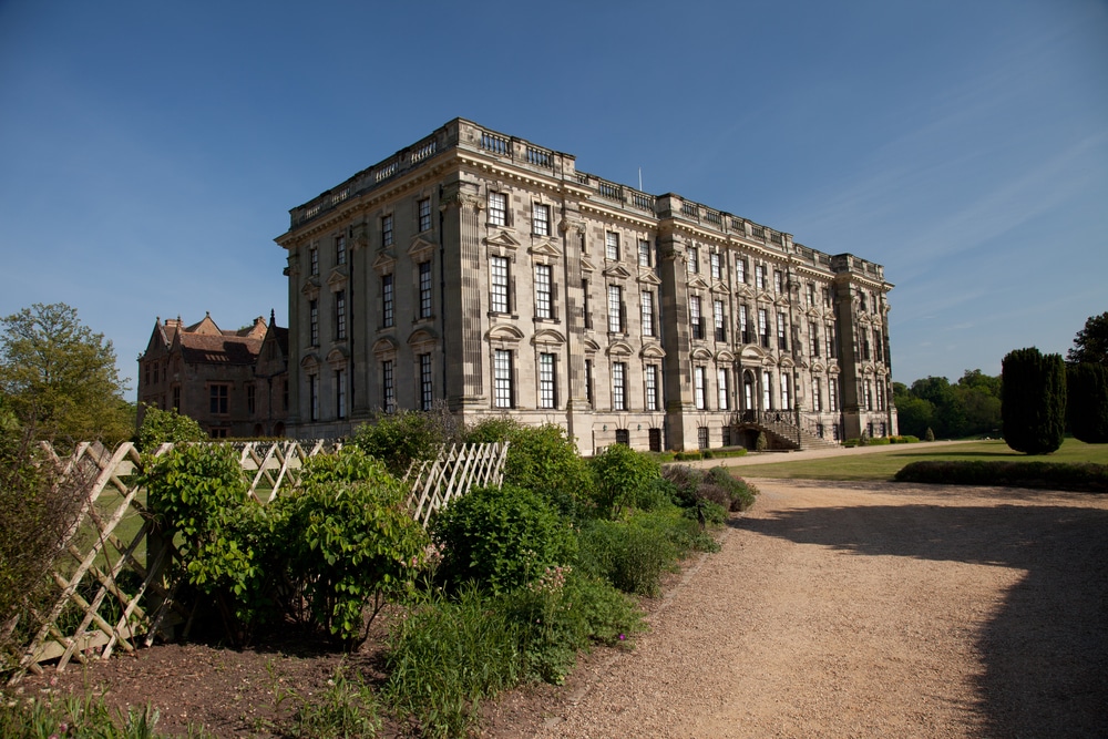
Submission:
[[[583,453],[896,432],[880,265],[455,119],[293,208],[289,433],[438,401]]]

